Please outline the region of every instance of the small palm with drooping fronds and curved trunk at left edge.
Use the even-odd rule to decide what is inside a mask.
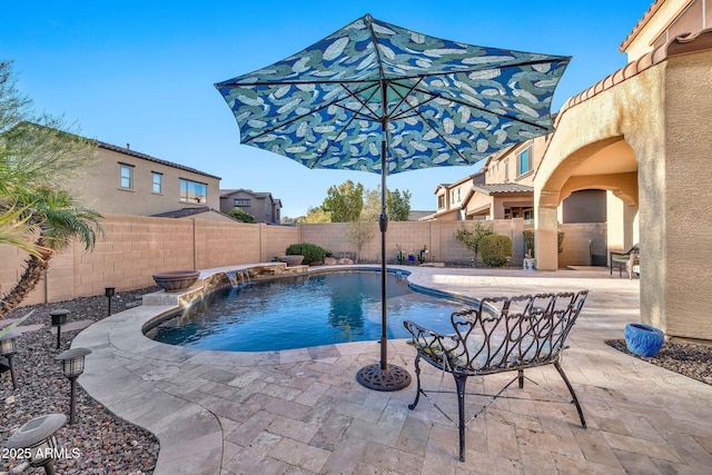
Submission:
[[[34,289],[56,254],[79,241],[92,249],[101,232],[97,211],[77,206],[65,190],[39,187],[16,197],[20,206],[19,220],[31,227],[38,253],[30,254],[20,280],[0,297],[0,318],[16,308]],[[1,207],[1,205],[0,205]],[[0,209],[8,212],[8,209]]]

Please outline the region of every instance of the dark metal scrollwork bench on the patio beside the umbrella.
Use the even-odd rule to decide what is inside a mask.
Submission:
[[[417,393],[414,403],[408,407],[414,409],[417,406],[421,394],[432,402],[427,396],[428,392],[421,386],[421,358],[443,372],[451,373],[457,389],[459,459],[464,461],[466,424],[477,417],[515,380],[518,380],[520,388],[524,387],[524,369],[554,365],[571,393],[571,404],[576,406],[581,425],[585,427],[578,399],[560,362],[566,338],[587,295],[587,290],[581,290],[483,298],[477,307],[452,315],[453,333],[448,335],[429,330],[409,320],[404,321],[412,335],[411,343],[417,350]],[[517,376],[497,394],[491,395],[490,403],[465,423],[467,377],[513,370],[517,372]],[[435,407],[443,412],[437,405]],[[444,412],[443,414],[449,418]]]

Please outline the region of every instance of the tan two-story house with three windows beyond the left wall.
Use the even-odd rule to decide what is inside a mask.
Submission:
[[[83,206],[101,214],[137,216],[188,209],[200,210],[192,215],[199,217],[206,209],[219,209],[219,177],[131,150],[128,144],[125,148],[96,141],[96,164],[70,184]]]

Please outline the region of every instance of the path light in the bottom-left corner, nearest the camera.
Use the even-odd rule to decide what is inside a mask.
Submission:
[[[29,449],[30,466],[44,467],[44,473],[55,475],[55,455],[59,452],[55,433],[67,422],[63,414],[48,414],[26,423],[10,436],[8,448]]]

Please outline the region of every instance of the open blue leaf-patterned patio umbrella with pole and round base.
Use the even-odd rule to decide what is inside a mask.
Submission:
[[[428,37],[369,14],[279,62],[216,83],[240,141],[309,168],[380,174],[380,362],[357,374],[396,390],[387,362],[386,177],[473,165],[553,130],[551,100],[571,60]]]

